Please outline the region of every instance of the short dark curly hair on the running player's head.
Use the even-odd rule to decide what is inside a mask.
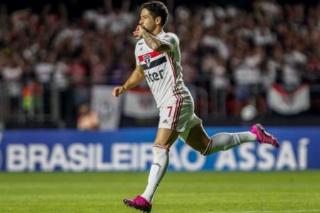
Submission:
[[[150,11],[151,16],[154,18],[160,16],[161,17],[161,26],[166,24],[168,21],[169,11],[166,8],[166,5],[161,1],[150,1],[142,4],[142,9],[147,9]]]

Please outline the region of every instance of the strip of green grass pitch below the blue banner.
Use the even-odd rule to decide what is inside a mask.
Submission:
[[[0,173],[0,212],[137,212],[148,173]],[[320,171],[167,173],[152,212],[320,212]]]

